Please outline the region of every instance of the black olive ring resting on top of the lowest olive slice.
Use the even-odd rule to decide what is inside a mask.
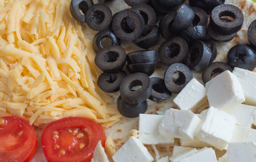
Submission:
[[[130,74],[120,85],[120,95],[126,103],[142,103],[150,97],[151,92],[150,78],[144,73]]]

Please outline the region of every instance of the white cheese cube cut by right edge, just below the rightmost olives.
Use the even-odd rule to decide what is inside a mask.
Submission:
[[[233,74],[236,75],[242,86],[245,103],[256,106],[256,73],[249,70],[234,68]]]

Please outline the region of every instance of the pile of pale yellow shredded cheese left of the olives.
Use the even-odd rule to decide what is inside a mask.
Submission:
[[[70,0],[0,1],[0,117],[40,125],[87,117],[104,127],[121,115],[96,82],[91,40],[72,18]]]

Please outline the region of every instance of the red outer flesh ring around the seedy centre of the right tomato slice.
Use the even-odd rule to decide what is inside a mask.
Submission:
[[[91,134],[87,134],[89,145],[86,149],[79,153],[74,153],[74,155],[59,156],[58,152],[54,151],[54,132],[67,128],[87,128],[91,132]],[[45,127],[41,136],[43,153],[48,162],[90,162],[95,146],[100,140],[102,141],[102,146],[104,146],[106,134],[103,128],[95,121],[84,117],[66,117],[53,121]]]

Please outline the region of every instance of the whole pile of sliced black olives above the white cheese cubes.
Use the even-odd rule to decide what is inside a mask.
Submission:
[[[213,62],[217,57],[215,41],[232,40],[244,22],[242,11],[224,4],[225,0],[190,0],[189,5],[185,0],[124,1],[131,8],[113,16],[105,3],[111,0],[70,3],[74,19],[99,31],[93,38],[95,64],[103,71],[98,86],[109,93],[120,90],[117,107],[123,116],[138,117],[146,112],[147,99],[158,103],[179,93],[192,80],[191,70],[202,72],[206,83],[234,67],[255,68],[256,20],[248,30],[251,45],[232,47],[227,63]],[[103,45],[104,38],[110,41],[108,45]],[[126,53],[122,41],[143,50]],[[150,78],[159,62],[167,67],[165,76]]]

